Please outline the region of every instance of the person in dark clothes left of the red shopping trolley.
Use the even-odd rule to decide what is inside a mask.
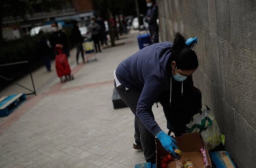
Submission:
[[[51,72],[51,45],[45,36],[38,42],[38,52],[42,56],[47,72]]]

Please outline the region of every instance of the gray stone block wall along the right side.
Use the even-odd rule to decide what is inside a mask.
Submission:
[[[157,0],[161,41],[198,37],[194,84],[237,167],[256,160],[256,1]]]

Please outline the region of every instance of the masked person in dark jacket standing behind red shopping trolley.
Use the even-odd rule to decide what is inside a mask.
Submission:
[[[59,30],[58,23],[52,23],[52,34],[49,36],[49,41],[55,55],[55,47],[63,48],[64,53],[69,56],[69,49],[68,49],[68,38],[66,33]]]

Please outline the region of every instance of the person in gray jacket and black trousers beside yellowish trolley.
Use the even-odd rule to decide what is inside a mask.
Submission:
[[[94,42],[96,53],[98,53],[97,46],[98,46],[99,52],[101,52],[101,48],[99,44],[99,40],[100,40],[99,32],[101,30],[101,27],[98,23],[95,22],[95,17],[91,17],[91,23],[88,26],[88,30],[92,34],[92,40]]]

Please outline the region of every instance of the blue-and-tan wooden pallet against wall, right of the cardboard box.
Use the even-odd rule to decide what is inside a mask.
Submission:
[[[229,153],[226,151],[218,151],[210,153],[216,168],[236,168],[231,160]]]

